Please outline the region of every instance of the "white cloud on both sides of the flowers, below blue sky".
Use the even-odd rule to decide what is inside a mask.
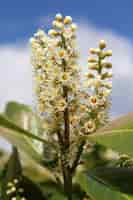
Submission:
[[[98,29],[87,23],[79,23],[78,41],[81,61],[87,70],[87,56],[90,47],[96,47],[100,39],[108,42],[113,50],[113,108],[112,115],[133,110],[133,45],[111,30]],[[0,46],[0,109],[9,100],[32,104],[32,70],[30,52],[27,46],[19,44]]]

